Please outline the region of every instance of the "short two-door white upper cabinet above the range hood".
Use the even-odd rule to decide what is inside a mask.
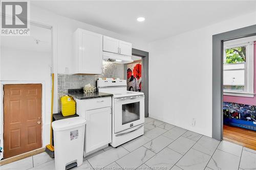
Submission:
[[[132,56],[132,43],[103,36],[103,51]]]

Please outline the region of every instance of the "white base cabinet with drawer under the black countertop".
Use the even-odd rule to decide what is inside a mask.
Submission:
[[[84,156],[96,152],[112,141],[112,98],[76,101],[76,113],[86,119]]]

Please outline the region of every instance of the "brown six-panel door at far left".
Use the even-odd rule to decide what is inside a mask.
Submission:
[[[4,158],[41,148],[41,84],[4,85]]]

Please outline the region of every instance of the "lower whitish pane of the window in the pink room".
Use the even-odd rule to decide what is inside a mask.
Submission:
[[[243,86],[245,84],[245,70],[223,71],[223,85]]]

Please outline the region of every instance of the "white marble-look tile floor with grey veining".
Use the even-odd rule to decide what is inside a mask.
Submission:
[[[145,118],[144,135],[117,148],[104,148],[72,169],[85,170],[251,170],[256,151],[217,141],[153,118]],[[55,169],[46,153],[0,166],[5,169]]]

